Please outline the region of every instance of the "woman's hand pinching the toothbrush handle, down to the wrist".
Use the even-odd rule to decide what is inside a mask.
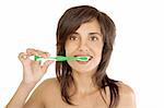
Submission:
[[[22,62],[23,65],[23,83],[25,84],[33,84],[35,85],[37,82],[40,81],[40,79],[44,76],[46,73],[49,64],[51,64],[54,61],[52,60],[47,60],[40,64],[42,61],[34,61],[31,60],[31,56],[40,56],[43,58],[49,57],[48,52],[44,52],[40,50],[32,49],[28,48],[26,49],[26,52],[21,52],[19,55],[19,59]]]

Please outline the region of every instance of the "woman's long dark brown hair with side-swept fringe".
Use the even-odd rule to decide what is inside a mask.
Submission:
[[[68,36],[74,33],[81,24],[90,22],[93,19],[96,19],[99,23],[104,46],[102,51],[102,60],[98,64],[97,71],[93,74],[92,80],[95,81],[94,83],[103,89],[105,94],[105,88],[109,88],[109,108],[115,108],[119,100],[119,89],[117,81],[114,81],[107,76],[106,69],[113,51],[116,27],[113,20],[107,14],[91,5],[79,5],[68,9],[60,17],[57,26],[57,55],[66,56],[65,44]],[[56,75],[60,83],[62,100],[69,105],[74,105],[72,104],[70,98],[71,96],[69,94],[71,84],[74,84],[74,80],[71,75],[71,67],[66,61],[57,61]],[[102,98],[105,101],[103,95]]]

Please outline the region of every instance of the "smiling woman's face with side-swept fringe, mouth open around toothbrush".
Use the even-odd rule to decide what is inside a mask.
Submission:
[[[82,24],[75,33],[68,36],[66,41],[66,56],[90,57],[89,61],[67,61],[77,72],[95,72],[101,59],[103,49],[103,35],[97,20]]]

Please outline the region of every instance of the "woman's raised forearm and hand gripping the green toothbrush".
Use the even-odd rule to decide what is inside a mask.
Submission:
[[[40,61],[33,61],[30,59],[30,57],[34,55],[39,55],[44,58],[49,56],[48,52],[32,48],[28,48],[26,49],[26,52],[21,52],[19,55],[19,59],[23,65],[23,80],[16,93],[7,105],[7,108],[24,108],[26,97],[46,73],[49,64],[52,63],[52,61],[45,61],[44,64],[40,65]]]

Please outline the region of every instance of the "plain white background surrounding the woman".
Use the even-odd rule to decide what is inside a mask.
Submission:
[[[57,22],[77,4],[94,5],[116,23],[108,75],[133,88],[138,108],[164,108],[162,0],[0,0],[0,108],[22,80],[19,52],[32,47],[55,55]],[[52,76],[51,65],[44,79]]]

